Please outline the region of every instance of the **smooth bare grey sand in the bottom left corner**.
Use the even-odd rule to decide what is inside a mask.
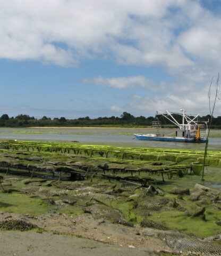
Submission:
[[[0,231],[1,256],[154,256],[126,246],[100,243],[70,235],[33,231]]]

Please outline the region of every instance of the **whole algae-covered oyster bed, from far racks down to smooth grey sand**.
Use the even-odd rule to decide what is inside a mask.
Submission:
[[[208,153],[204,182],[202,155],[2,142],[0,229],[72,234],[163,255],[220,255],[220,153]]]

